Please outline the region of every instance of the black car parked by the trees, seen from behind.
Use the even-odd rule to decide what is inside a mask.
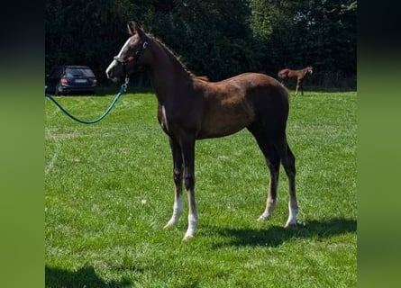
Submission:
[[[97,79],[90,67],[59,66],[45,80],[46,92],[53,94],[96,93]]]

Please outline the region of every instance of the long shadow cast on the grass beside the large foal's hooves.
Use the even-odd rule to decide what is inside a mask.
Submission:
[[[357,221],[347,219],[313,220],[305,224],[296,224],[287,229],[282,226],[273,226],[268,229],[217,228],[217,231],[227,239],[223,243],[215,245],[215,248],[227,246],[278,247],[294,238],[322,240],[344,233],[356,233]]]

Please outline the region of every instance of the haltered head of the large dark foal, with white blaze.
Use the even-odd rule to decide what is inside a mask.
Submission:
[[[138,67],[146,63],[148,38],[136,22],[130,21],[127,24],[127,28],[130,38],[128,38],[120,53],[114,56],[114,60],[105,70],[107,77],[114,82],[124,76],[130,76]]]

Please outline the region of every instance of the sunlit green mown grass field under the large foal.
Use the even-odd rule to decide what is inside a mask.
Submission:
[[[292,91],[294,95],[294,92]],[[59,97],[93,119],[109,96]],[[356,92],[292,96],[287,139],[296,155],[298,225],[287,220],[287,177],[265,208],[269,176],[247,130],[196,142],[196,237],[177,227],[167,136],[153,94],[124,94],[95,125],[46,101],[46,287],[355,287]]]

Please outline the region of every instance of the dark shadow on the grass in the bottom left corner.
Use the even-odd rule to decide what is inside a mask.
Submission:
[[[65,287],[132,287],[128,279],[122,281],[105,282],[98,275],[93,266],[83,266],[77,271],[68,271],[62,268],[45,267],[45,286],[47,288]]]

